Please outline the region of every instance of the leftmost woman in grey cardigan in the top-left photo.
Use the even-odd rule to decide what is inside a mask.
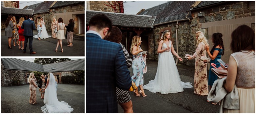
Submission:
[[[5,22],[5,36],[8,37],[8,48],[12,48],[11,47],[11,39],[12,39],[12,31],[13,31],[13,24],[12,24],[12,18],[11,16],[8,16],[6,22]]]

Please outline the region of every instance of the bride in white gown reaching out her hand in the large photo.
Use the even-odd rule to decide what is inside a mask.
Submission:
[[[144,89],[153,93],[161,94],[182,92],[183,88],[192,88],[191,83],[181,82],[181,78],[175,64],[172,53],[182,61],[181,57],[175,52],[170,41],[170,32],[165,30],[161,36],[158,46],[159,61],[155,80],[151,80]]]

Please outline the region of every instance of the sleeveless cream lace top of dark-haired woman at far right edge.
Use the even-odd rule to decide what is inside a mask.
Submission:
[[[237,63],[236,86],[255,87],[255,52],[240,51],[231,54]]]

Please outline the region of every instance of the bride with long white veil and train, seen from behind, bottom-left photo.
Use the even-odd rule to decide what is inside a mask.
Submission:
[[[43,90],[45,90],[45,105],[41,107],[41,110],[44,113],[71,113],[74,110],[68,103],[58,101],[53,73],[49,72],[47,84]]]

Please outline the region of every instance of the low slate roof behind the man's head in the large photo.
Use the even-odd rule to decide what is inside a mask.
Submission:
[[[89,24],[92,16],[99,13],[107,15],[112,20],[113,26],[119,27],[153,28],[152,24],[156,18],[155,16],[86,10],[86,24]]]

